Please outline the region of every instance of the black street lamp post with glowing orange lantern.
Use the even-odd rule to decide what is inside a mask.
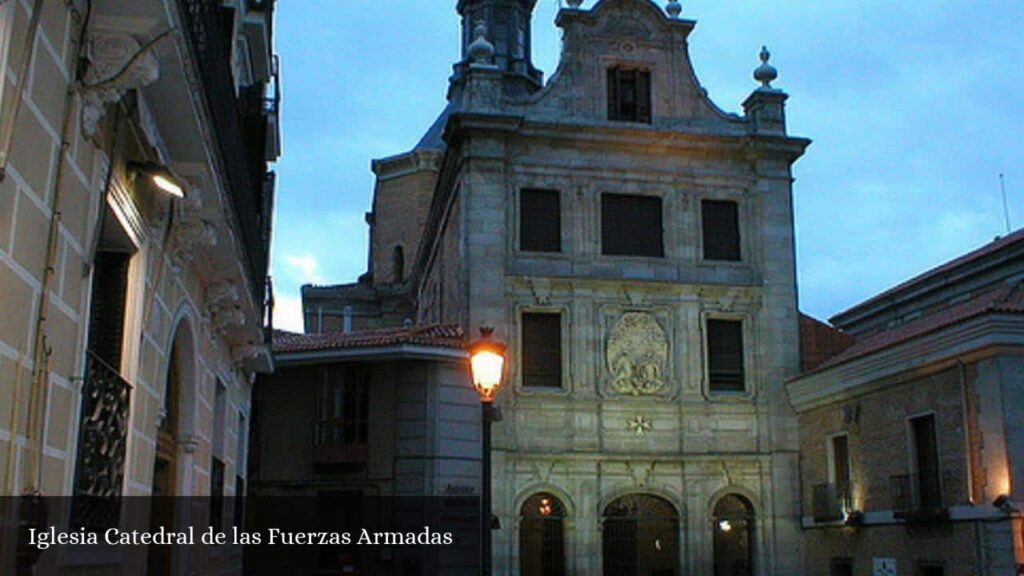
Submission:
[[[494,337],[495,329],[490,326],[480,328],[480,337],[469,344],[469,362],[473,372],[473,386],[480,395],[481,419],[483,424],[482,442],[482,474],[480,478],[481,510],[480,551],[482,554],[482,570],[484,576],[490,576],[492,568],[492,530],[494,529],[490,511],[490,424],[501,419],[501,414],[495,408],[495,394],[502,385],[505,377],[505,352],[508,346]]]

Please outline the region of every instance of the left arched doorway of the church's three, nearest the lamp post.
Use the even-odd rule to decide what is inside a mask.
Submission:
[[[565,506],[556,496],[535,494],[520,509],[519,574],[565,574]]]

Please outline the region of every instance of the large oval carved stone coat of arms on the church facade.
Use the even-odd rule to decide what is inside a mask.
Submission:
[[[611,389],[626,396],[663,392],[669,375],[669,339],[653,316],[626,313],[608,336]]]

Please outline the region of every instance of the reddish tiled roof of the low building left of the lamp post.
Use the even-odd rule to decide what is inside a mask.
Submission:
[[[324,334],[296,334],[284,330],[273,331],[273,352],[278,354],[299,352],[326,352],[350,348],[417,345],[440,348],[462,348],[465,339],[459,326],[432,324],[380,328],[358,332],[327,332]]]

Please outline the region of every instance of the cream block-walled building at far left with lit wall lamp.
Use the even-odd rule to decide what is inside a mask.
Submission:
[[[5,502],[4,526],[223,525],[245,492],[269,368],[273,5],[0,2],[0,494],[72,503]],[[210,518],[122,505],[148,495],[209,496]],[[241,572],[198,547],[40,557],[10,535],[3,574]]]

